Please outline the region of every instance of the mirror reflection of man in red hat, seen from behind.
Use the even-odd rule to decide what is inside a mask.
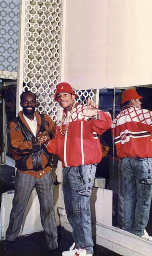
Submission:
[[[123,229],[152,241],[145,230],[152,199],[152,111],[141,109],[141,99],[133,89],[124,91],[112,131],[122,159]]]

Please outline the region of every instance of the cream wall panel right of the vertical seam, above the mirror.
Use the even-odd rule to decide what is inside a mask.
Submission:
[[[151,0],[109,0],[106,87],[152,83],[151,10]]]

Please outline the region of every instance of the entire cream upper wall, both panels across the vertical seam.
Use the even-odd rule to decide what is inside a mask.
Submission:
[[[64,80],[75,89],[152,84],[151,0],[67,0]]]

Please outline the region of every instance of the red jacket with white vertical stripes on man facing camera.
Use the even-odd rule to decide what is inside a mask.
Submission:
[[[88,118],[81,116],[81,113],[86,111],[86,106],[78,104],[73,111],[66,134],[61,135],[59,129],[61,122],[59,122],[55,138],[47,145],[48,152],[59,156],[62,167],[88,165],[101,161],[101,145],[97,134],[101,135],[111,127],[111,116],[99,111],[99,119],[87,120]],[[64,114],[63,131],[70,112],[64,110]]]

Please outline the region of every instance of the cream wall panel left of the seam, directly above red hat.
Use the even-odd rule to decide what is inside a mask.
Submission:
[[[106,83],[108,0],[67,0],[64,80],[75,89]]]

